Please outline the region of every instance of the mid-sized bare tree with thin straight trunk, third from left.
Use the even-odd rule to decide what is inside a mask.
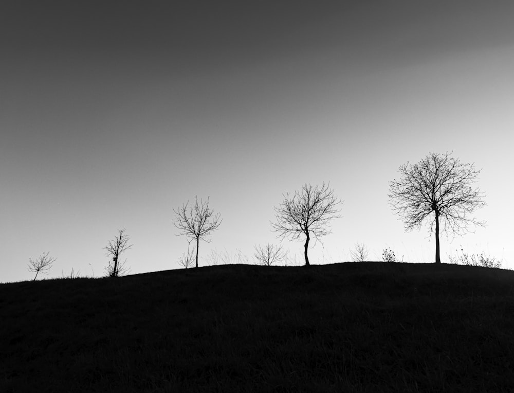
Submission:
[[[210,242],[207,239],[213,230],[216,230],[223,220],[219,219],[219,213],[214,215],[214,210],[209,209],[209,198],[204,202],[195,197],[195,205],[189,206],[189,201],[178,210],[173,209],[176,219],[173,221],[175,227],[180,230],[180,235],[186,235],[191,240],[196,240],[196,267],[198,267],[198,248],[200,240]]]

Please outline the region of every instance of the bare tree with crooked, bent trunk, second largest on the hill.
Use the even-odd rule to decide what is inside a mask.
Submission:
[[[323,183],[321,187],[313,187],[305,184],[300,191],[283,195],[284,201],[275,207],[277,222],[271,223],[273,230],[284,239],[290,236],[293,240],[299,240],[305,235],[304,256],[305,265],[310,265],[307,249],[310,236],[316,241],[321,236],[331,233],[329,221],[340,217],[338,205],[343,202],[334,196],[334,191],[329,189],[329,184]]]

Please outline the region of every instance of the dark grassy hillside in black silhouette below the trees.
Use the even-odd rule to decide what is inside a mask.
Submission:
[[[512,392],[514,272],[225,265],[0,285],[2,392]]]

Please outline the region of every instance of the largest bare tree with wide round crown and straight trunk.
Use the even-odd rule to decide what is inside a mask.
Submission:
[[[400,180],[390,182],[390,204],[402,217],[406,230],[428,221],[432,233],[435,226],[435,263],[441,263],[439,233],[451,231],[456,235],[469,224],[484,225],[468,216],[485,205],[483,193],[472,188],[480,170],[451,154],[430,153],[417,164],[401,165]]]

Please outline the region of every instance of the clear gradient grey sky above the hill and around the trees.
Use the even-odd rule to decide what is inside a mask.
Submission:
[[[514,269],[513,17],[510,1],[2,2],[0,282],[32,279],[43,252],[48,277],[102,276],[121,228],[132,274],[178,269],[173,208],[195,195],[223,219],[200,266],[252,263],[280,244],[283,194],[323,182],[344,203],[311,263],[356,242],[432,262],[388,185],[447,151],[482,169],[487,226],[442,237],[443,262],[462,245]]]

